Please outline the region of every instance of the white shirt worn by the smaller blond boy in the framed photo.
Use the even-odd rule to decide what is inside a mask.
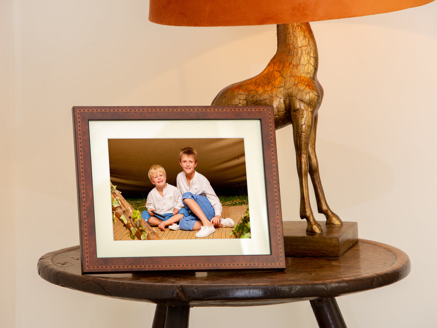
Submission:
[[[167,183],[163,189],[162,197],[158,189],[153,188],[147,195],[146,208],[153,208],[158,214],[173,213],[173,209],[181,209],[184,207],[182,203],[182,194],[174,186]]]

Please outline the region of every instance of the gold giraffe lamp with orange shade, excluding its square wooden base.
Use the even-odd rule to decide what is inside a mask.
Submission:
[[[273,106],[275,128],[293,127],[300,186],[300,217],[309,234],[320,234],[309,202],[311,178],[327,226],[341,226],[329,208],[319,175],[315,144],[323,88],[310,21],[366,16],[417,7],[434,0],[150,0],[149,20],[175,26],[277,24],[277,52],[257,76],[220,91],[215,106]],[[232,14],[229,14],[232,13]]]

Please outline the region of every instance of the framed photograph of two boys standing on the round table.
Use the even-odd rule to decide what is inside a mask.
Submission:
[[[285,268],[272,107],[73,107],[73,124],[83,273]],[[208,236],[186,188],[221,212]]]

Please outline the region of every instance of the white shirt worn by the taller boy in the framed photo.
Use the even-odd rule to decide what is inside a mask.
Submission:
[[[214,208],[215,215],[222,216],[222,204],[205,176],[194,171],[194,177],[190,181],[190,186],[188,186],[187,176],[185,175],[185,172],[182,171],[177,174],[176,185],[181,194],[184,194],[184,192],[191,192],[194,195],[205,196]]]

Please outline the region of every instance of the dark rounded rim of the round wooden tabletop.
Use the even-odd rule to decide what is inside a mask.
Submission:
[[[38,261],[38,274],[45,279],[49,283],[53,283],[58,286],[63,286],[73,290],[80,290],[86,293],[94,293],[101,296],[121,298],[121,299],[129,299],[129,300],[140,300],[146,301],[150,303],[165,303],[170,305],[182,305],[188,304],[191,306],[215,306],[216,302],[221,302],[220,304],[229,304],[232,303],[241,303],[245,302],[244,305],[264,305],[264,304],[279,304],[292,302],[297,300],[309,300],[316,299],[320,297],[336,297],[340,295],[347,295],[351,293],[358,293],[364,290],[371,290],[375,288],[379,288],[382,286],[388,286],[392,283],[395,283],[399,280],[404,279],[408,276],[411,271],[411,262],[406,255],[405,252],[401,251],[399,248],[395,248],[388,244],[383,244],[375,241],[368,241],[364,239],[359,239],[359,243],[368,243],[373,244],[382,248],[385,248],[388,251],[391,251],[395,257],[396,261],[393,262],[386,270],[382,270],[380,272],[375,272],[374,274],[369,274],[366,277],[361,277],[360,279],[355,278],[346,278],[335,279],[335,281],[324,281],[317,283],[295,283],[291,290],[284,289],[284,286],[275,284],[272,282],[269,285],[263,284],[263,286],[239,286],[239,294],[240,297],[238,301],[236,300],[236,296],[229,294],[228,297],[224,297],[220,294],[220,297],[215,299],[214,297],[209,297],[205,300],[205,296],[202,296],[202,293],[198,293],[199,297],[196,297],[196,293],[198,292],[198,288],[202,288],[203,285],[184,285],[181,284],[165,284],[166,290],[172,290],[172,292],[168,293],[156,293],[156,290],[160,288],[163,289],[164,284],[154,283],[153,288],[155,289],[155,295],[153,294],[153,288],[149,287],[150,293],[135,293],[130,292],[128,294],[123,293],[114,293],[114,290],[111,289],[111,274],[109,273],[105,276],[102,275],[78,275],[71,272],[66,272],[66,270],[62,270],[57,267],[52,259],[63,252],[74,251],[79,249],[79,246],[72,246],[69,248],[63,248],[58,251],[52,251],[45,255],[43,255]],[[194,271],[194,270],[193,270]],[[232,270],[235,271],[235,270]],[[59,273],[62,272],[62,275]],[[114,272],[115,273],[115,272]],[[159,272],[162,273],[162,272]],[[158,274],[159,274],[158,273]],[[79,278],[79,279],[78,279]],[[114,278],[116,279],[116,278]],[[78,283],[78,280],[80,281]],[[135,283],[128,283],[130,285],[135,285]],[[138,284],[140,286],[141,284]],[[162,286],[160,286],[162,285]],[[210,286],[210,285],[208,285]],[[226,287],[228,285],[221,284],[217,286],[217,291]],[[229,284],[229,286],[234,286],[235,284]],[[211,286],[210,286],[211,287]],[[212,287],[214,288],[214,287]],[[131,288],[132,289],[132,288]],[[140,288],[139,288],[140,289]],[[263,297],[259,297],[259,293],[256,293],[257,289],[260,290],[272,290],[272,296],[269,298],[268,295],[264,295]],[[194,292],[195,290],[195,292]],[[347,290],[347,292],[344,292]],[[214,290],[209,290],[209,292],[214,295]],[[161,294],[157,296],[157,294]],[[126,296],[129,295],[129,296]],[[241,297],[241,295],[244,295]],[[132,296],[132,297],[131,297]],[[274,300],[273,300],[274,299]],[[253,302],[253,304],[250,304]]]

